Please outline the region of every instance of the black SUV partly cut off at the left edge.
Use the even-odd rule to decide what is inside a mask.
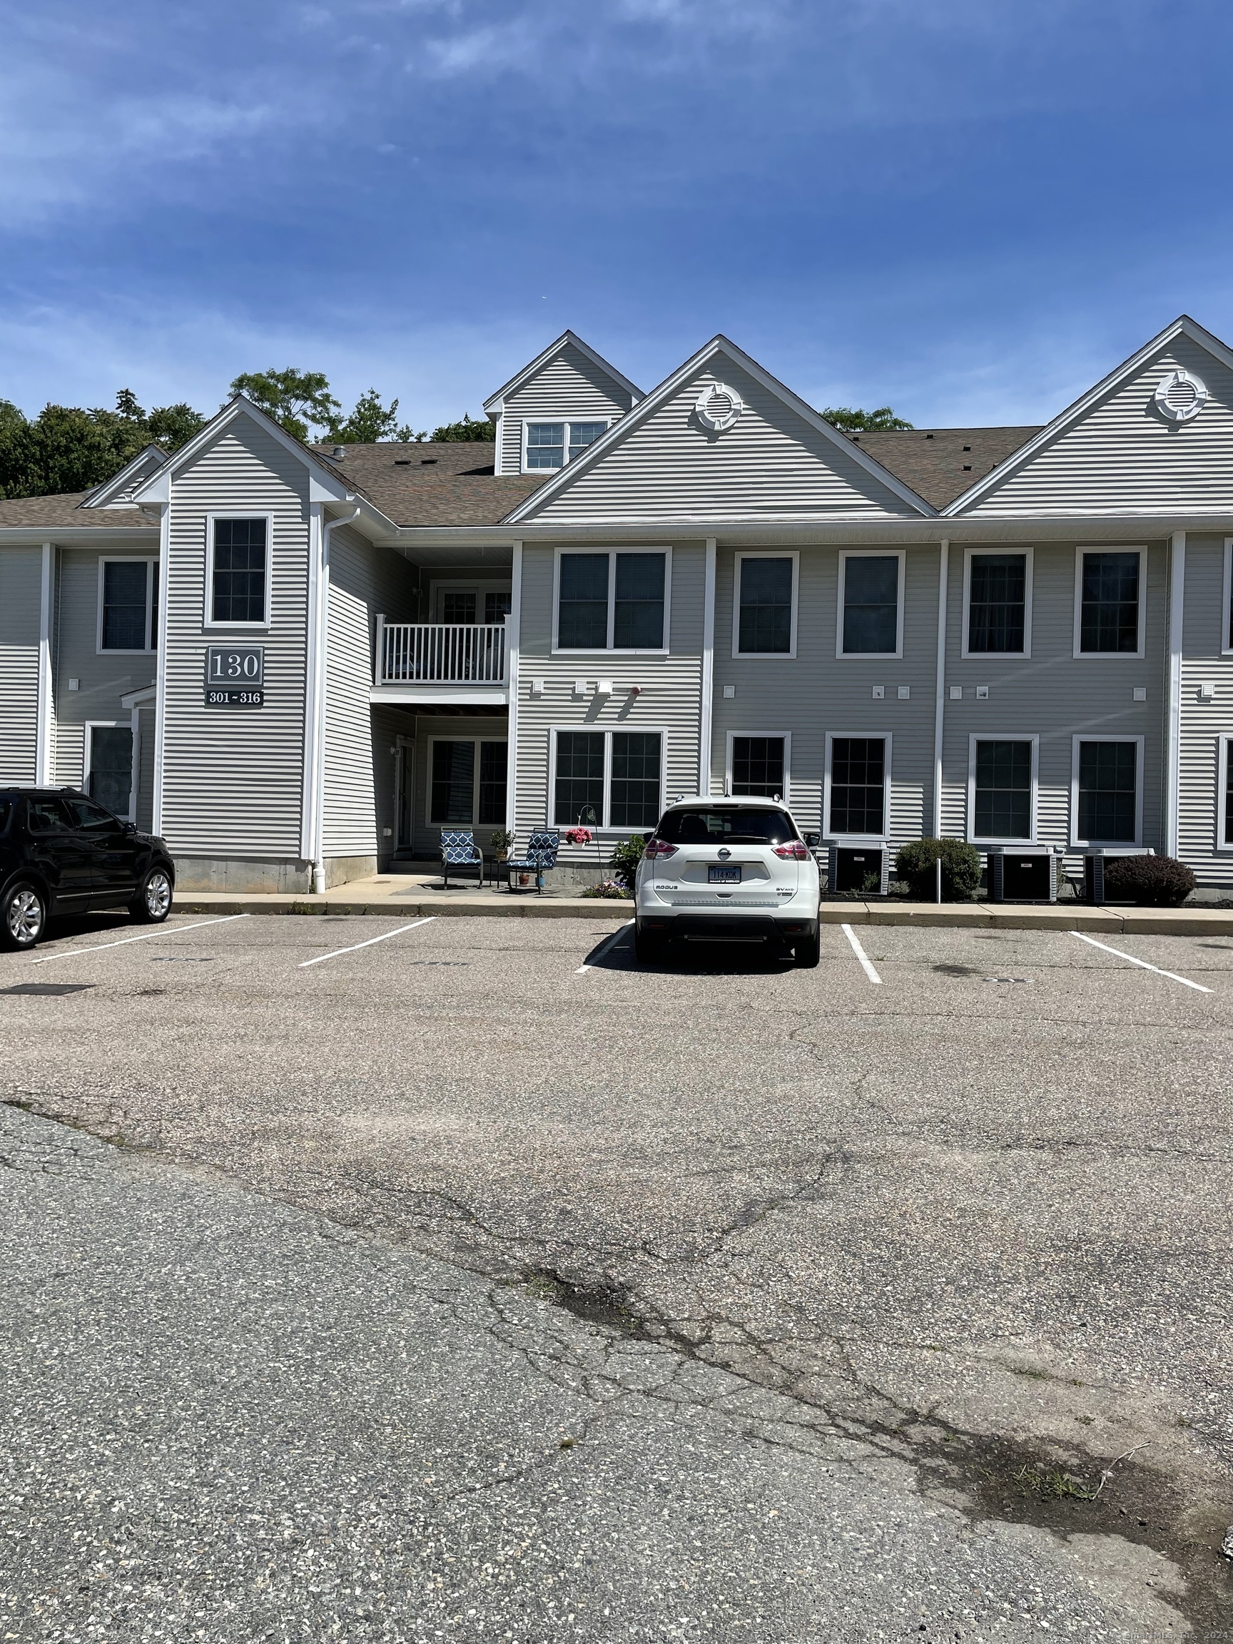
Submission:
[[[0,787],[0,947],[33,947],[49,914],[94,907],[159,924],[174,884],[161,838],[74,787]]]

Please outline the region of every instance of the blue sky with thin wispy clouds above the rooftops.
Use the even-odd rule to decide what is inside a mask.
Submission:
[[[0,0],[0,396],[431,427],[567,326],[1032,423],[1233,339],[1228,0]]]

